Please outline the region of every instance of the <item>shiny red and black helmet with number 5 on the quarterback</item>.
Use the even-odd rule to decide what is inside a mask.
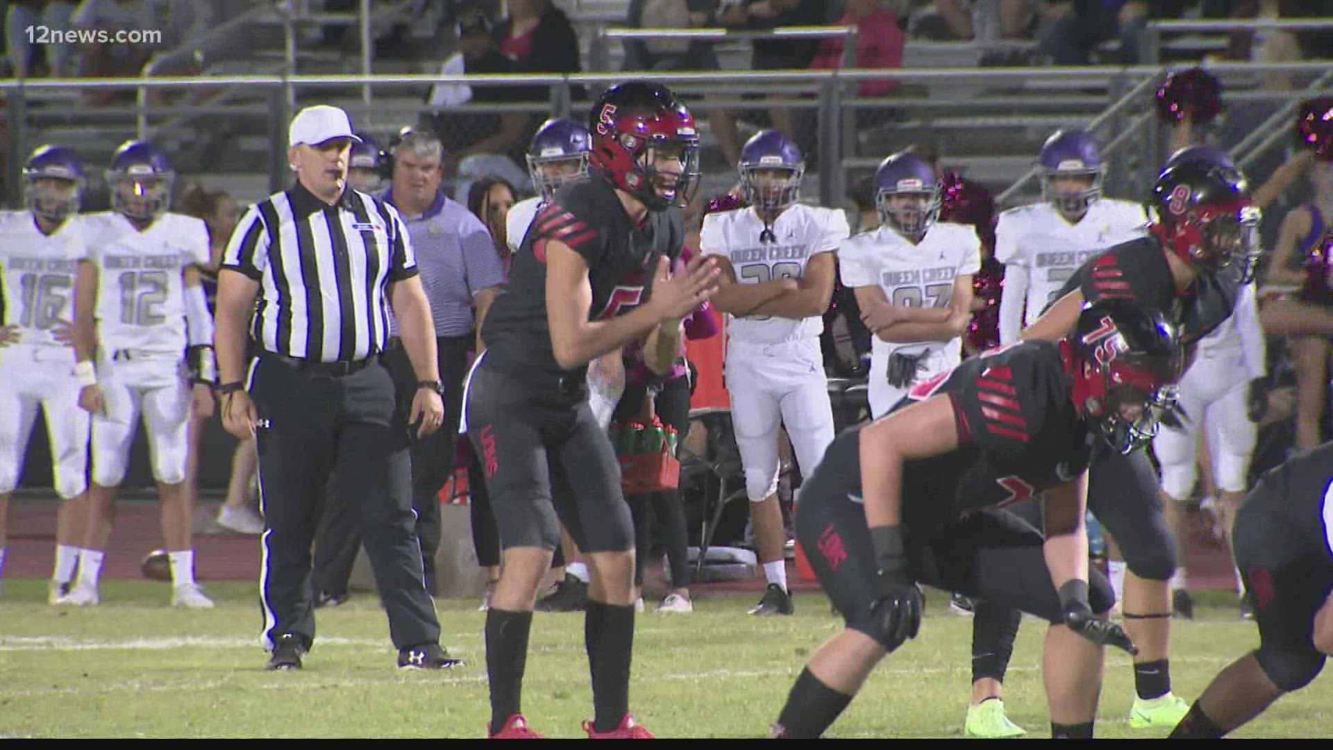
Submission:
[[[627,81],[597,99],[588,121],[592,165],[611,184],[649,208],[686,206],[698,185],[698,128],[669,88]],[[677,155],[680,173],[659,171],[659,152]]]

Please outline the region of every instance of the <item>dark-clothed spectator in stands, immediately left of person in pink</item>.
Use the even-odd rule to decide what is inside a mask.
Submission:
[[[824,3],[818,0],[744,0],[728,3],[721,15],[722,25],[742,29],[773,29],[781,27],[821,25],[825,20]],[[756,39],[750,67],[756,71],[801,71],[810,67],[818,51],[817,39]],[[813,153],[809,139],[797,137],[792,125],[792,112],[785,107],[769,109],[773,127],[796,140],[801,149]]]

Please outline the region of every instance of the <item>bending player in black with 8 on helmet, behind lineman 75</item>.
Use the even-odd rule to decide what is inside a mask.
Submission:
[[[1144,238],[1108,248],[1065,284],[1061,296],[1022,332],[1053,342],[1069,334],[1085,303],[1130,300],[1166,312],[1185,359],[1193,346],[1230,316],[1257,258],[1258,210],[1245,177],[1225,163],[1186,161],[1166,168],[1153,185],[1153,222]],[[1070,248],[1077,250],[1077,248]],[[1128,566],[1121,609],[1138,654],[1134,729],[1173,727],[1189,705],[1170,691],[1170,578],[1176,542],[1162,516],[1157,474],[1146,451],[1100,450],[1089,474],[1088,506],[1116,538]],[[986,606],[986,605],[981,605]],[[988,617],[986,622],[1010,622]],[[1013,650],[1017,629],[974,634],[974,651]],[[1004,658],[1002,661],[1008,661]],[[1004,674],[1004,663],[998,674]]]

